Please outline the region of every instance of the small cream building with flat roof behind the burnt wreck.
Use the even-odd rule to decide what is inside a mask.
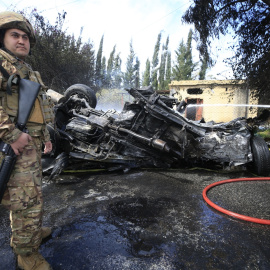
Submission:
[[[172,81],[170,92],[187,103],[184,114],[191,120],[228,122],[237,117],[255,117],[258,100],[252,98],[244,81],[186,80]]]

